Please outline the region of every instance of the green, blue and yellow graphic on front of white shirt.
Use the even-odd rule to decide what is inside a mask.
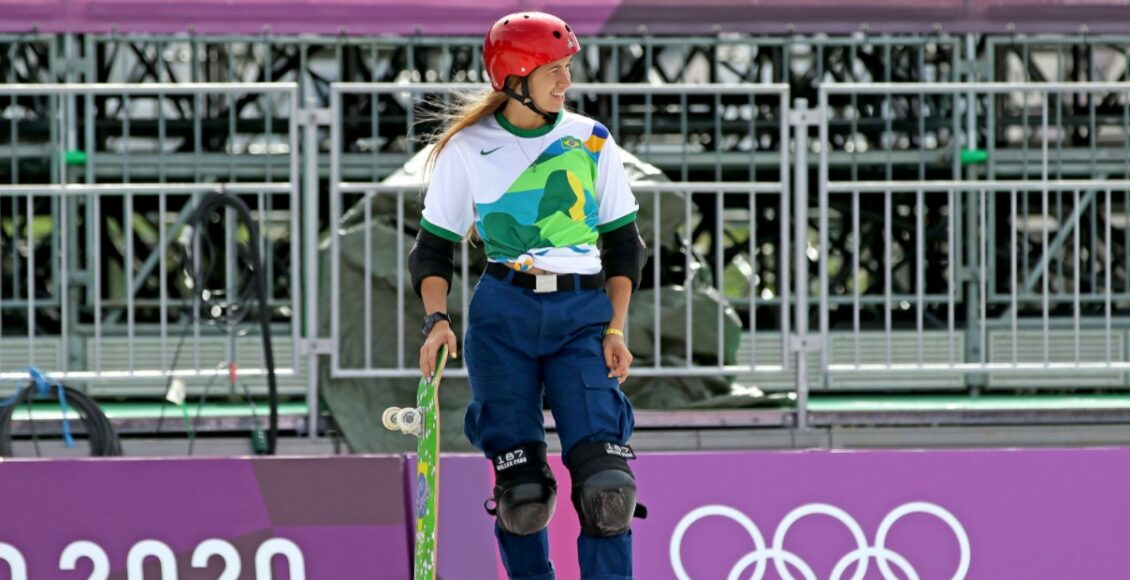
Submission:
[[[514,261],[539,250],[592,251],[597,244],[597,163],[608,138],[600,123],[581,140],[563,137],[551,142],[490,204],[476,204],[475,226],[487,257]]]

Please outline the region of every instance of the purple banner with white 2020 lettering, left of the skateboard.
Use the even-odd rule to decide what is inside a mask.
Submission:
[[[0,461],[0,580],[408,578],[402,473],[400,457]]]

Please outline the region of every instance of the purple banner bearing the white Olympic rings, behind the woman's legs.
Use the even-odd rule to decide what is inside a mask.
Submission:
[[[559,458],[550,462],[568,490]],[[462,495],[450,499],[473,500],[458,517],[488,527],[489,466],[449,458],[445,477],[455,465]],[[633,527],[636,578],[1130,574],[1130,449],[645,453],[633,468],[650,511]],[[550,525],[558,578],[579,577],[579,529],[563,492]],[[492,570],[451,542],[440,549],[441,570],[505,578],[497,561]]]

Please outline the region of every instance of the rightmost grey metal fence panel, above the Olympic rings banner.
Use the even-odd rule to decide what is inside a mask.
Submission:
[[[1023,180],[832,180],[822,150],[817,310],[829,345],[822,354],[827,376],[932,374],[956,387],[1124,386],[1130,181],[1102,172],[1053,179],[1055,146],[1071,136],[1050,110],[1076,95],[1121,105],[1128,90],[1130,84],[1121,83],[822,87],[822,142],[836,116],[833,103],[845,95],[923,109],[929,97],[946,97],[957,106],[948,120],[936,121],[955,129],[963,124],[959,110],[983,106],[977,122],[990,136],[1008,127],[997,111],[1031,110],[1010,121],[1018,125],[1015,140],[990,137],[988,162],[991,167],[994,157],[1019,153],[1037,168]],[[976,131],[970,127],[966,137]],[[955,178],[959,145],[946,152]],[[872,246],[881,256],[861,250],[869,235],[881,239]],[[881,267],[868,270],[862,261]]]

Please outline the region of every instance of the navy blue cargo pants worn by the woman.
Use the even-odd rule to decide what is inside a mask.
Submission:
[[[489,458],[545,441],[542,395],[562,451],[582,441],[627,443],[632,405],[605,365],[603,330],[612,308],[603,289],[536,293],[483,276],[469,306],[464,354],[471,383],[464,432]],[[574,287],[577,287],[575,285]],[[570,495],[558,491],[558,505]],[[495,526],[513,579],[553,580],[547,530],[515,536]],[[632,533],[577,538],[585,580],[632,578]]]

